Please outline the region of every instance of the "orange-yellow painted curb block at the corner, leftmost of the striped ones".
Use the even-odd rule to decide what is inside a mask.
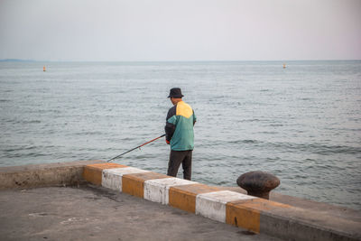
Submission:
[[[121,168],[126,167],[125,165],[117,164],[117,163],[96,163],[86,165],[83,171],[83,178],[95,185],[101,185],[102,181],[102,171],[105,169],[111,168]]]

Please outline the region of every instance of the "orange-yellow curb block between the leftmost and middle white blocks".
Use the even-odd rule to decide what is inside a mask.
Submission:
[[[144,181],[161,178],[169,178],[169,176],[153,171],[125,174],[122,177],[122,191],[143,199]]]

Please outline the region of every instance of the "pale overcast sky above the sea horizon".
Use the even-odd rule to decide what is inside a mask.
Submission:
[[[0,59],[360,60],[361,0],[0,0]]]

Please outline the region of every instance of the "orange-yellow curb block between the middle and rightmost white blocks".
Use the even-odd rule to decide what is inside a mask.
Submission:
[[[196,197],[200,193],[219,190],[204,184],[190,184],[171,187],[169,192],[169,204],[177,209],[183,209],[192,213],[196,212]]]

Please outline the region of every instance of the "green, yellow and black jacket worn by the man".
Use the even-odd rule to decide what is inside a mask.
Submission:
[[[164,129],[166,140],[171,142],[171,150],[193,150],[193,125],[196,120],[193,109],[184,101],[180,101],[170,108]]]

